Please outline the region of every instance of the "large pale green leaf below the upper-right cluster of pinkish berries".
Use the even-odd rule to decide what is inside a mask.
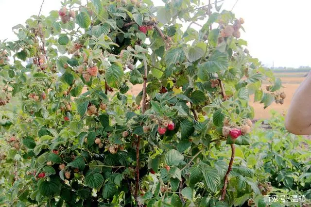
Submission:
[[[215,50],[210,59],[199,66],[198,76],[202,80],[206,80],[206,73],[218,73],[227,69],[228,54]]]

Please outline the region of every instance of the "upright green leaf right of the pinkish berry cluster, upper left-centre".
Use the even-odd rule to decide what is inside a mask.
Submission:
[[[113,88],[119,88],[123,77],[123,68],[121,64],[112,64],[105,73],[107,84]]]

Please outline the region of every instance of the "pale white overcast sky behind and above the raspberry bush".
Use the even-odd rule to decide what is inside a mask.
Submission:
[[[214,0],[211,0],[214,2]],[[159,0],[154,0],[159,5]],[[207,2],[207,0],[201,0]],[[225,0],[231,10],[236,0]],[[37,15],[42,0],[0,0],[0,39],[12,39],[12,27]],[[60,0],[45,0],[41,14],[61,7]],[[268,66],[299,67],[311,65],[311,0],[238,0],[233,12],[243,17],[248,49],[253,57]],[[15,38],[14,38],[15,39]]]

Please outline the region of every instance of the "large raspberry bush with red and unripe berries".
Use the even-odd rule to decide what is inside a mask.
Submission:
[[[0,43],[1,183],[11,192],[1,204],[228,206],[258,197],[259,177],[234,159],[250,144],[248,102],[254,95],[268,107],[285,94],[246,49],[243,22],[217,2],[65,0],[15,26],[17,40]]]

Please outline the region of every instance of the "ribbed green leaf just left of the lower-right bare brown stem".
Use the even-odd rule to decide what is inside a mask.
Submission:
[[[207,188],[213,192],[218,191],[218,189],[220,188],[220,176],[218,170],[210,166],[204,166],[202,167],[202,170]]]

